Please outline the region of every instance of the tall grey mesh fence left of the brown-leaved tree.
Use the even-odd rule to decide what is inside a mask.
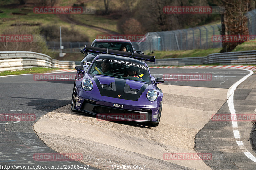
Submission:
[[[182,30],[149,32],[136,44],[141,51],[192,50],[221,47],[213,35],[220,35],[221,24],[200,26]]]

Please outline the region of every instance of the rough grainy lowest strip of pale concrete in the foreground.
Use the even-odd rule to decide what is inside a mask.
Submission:
[[[139,165],[146,170],[150,169],[184,169],[184,166],[179,166],[163,160],[148,157],[142,154],[126,151],[113,146],[104,145],[89,140],[81,140],[63,135],[55,135],[48,133],[38,133],[38,136],[44,140],[44,143],[53,150],[60,153],[81,153],[85,165],[90,165],[90,168],[98,168],[103,170],[111,169],[111,165]],[[99,164],[100,162],[100,164]],[[113,167],[112,167],[113,169]]]

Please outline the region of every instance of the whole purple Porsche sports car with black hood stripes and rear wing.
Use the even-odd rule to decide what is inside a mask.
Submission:
[[[76,66],[71,110],[158,126],[163,94],[157,84],[164,79],[151,76],[144,62],[155,57],[91,46],[84,52],[100,55],[90,65]]]

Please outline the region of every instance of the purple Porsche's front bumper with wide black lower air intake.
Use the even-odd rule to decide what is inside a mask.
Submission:
[[[97,95],[91,97],[77,90],[74,110],[96,115],[96,118],[108,121],[133,121],[144,123],[158,123],[159,109],[157,103],[152,105],[125,105],[124,99],[120,99],[123,108],[113,107],[113,98]],[[102,100],[96,100],[100,98]],[[108,98],[108,100],[106,100]],[[134,101],[136,103],[137,101]],[[126,100],[127,103],[127,100]],[[137,102],[138,103],[138,102]]]

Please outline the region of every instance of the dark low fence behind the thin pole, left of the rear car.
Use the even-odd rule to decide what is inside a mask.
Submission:
[[[60,42],[47,41],[48,49],[54,52],[60,52]],[[91,45],[91,42],[62,42],[64,49],[63,53],[79,53],[80,49],[84,48],[85,45]]]

